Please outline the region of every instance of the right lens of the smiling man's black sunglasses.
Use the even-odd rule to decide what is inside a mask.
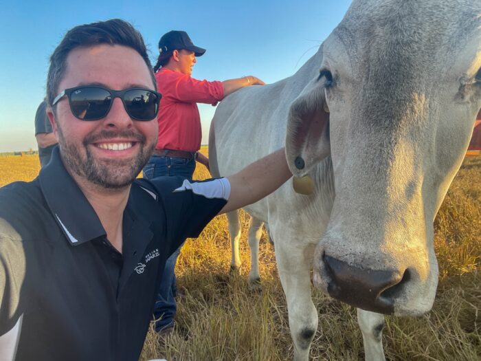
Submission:
[[[131,89],[124,94],[124,105],[132,118],[153,120],[159,109],[159,98],[157,94],[147,89]]]

